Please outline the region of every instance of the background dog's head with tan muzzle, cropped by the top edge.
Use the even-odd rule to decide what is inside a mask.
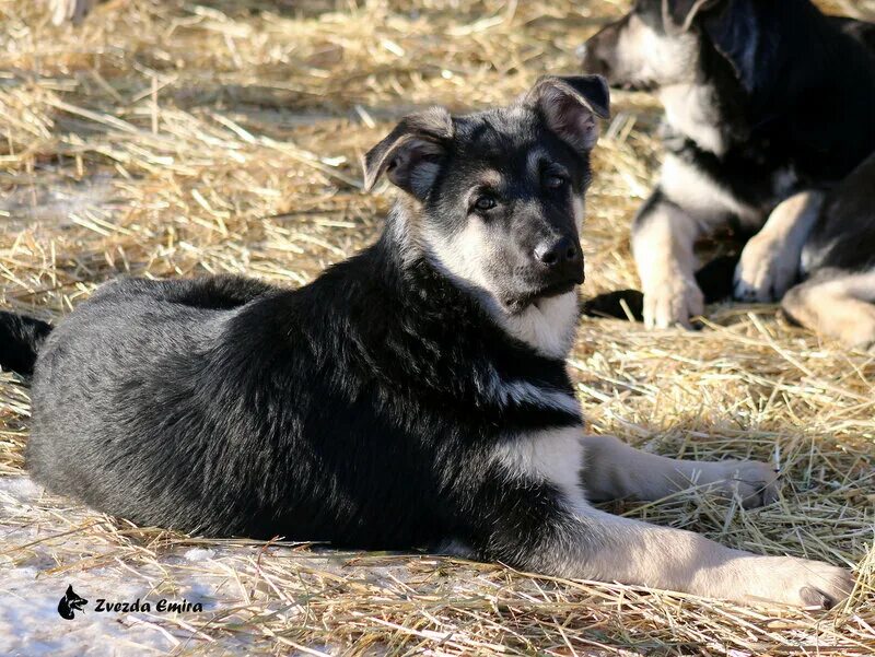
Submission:
[[[586,71],[611,86],[656,91],[700,81],[703,52],[718,52],[751,91],[769,68],[777,34],[804,12],[801,0],[638,0],[619,21],[590,38],[580,55]]]

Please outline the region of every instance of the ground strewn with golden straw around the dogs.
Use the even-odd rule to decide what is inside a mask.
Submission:
[[[538,73],[575,71],[575,46],[625,7],[112,0],[73,30],[50,26],[40,3],[0,0],[0,307],[59,320],[124,273],[305,283],[380,231],[393,192],[363,195],[358,163],[394,119],[500,103]],[[658,164],[657,118],[648,97],[616,94],[586,294],[637,283],[628,226]],[[775,307],[736,305],[709,308],[695,333],[582,320],[572,372],[594,432],[784,472],[762,509],[692,491],[611,511],[848,564],[850,602],[739,608],[430,555],[132,527],[24,478],[27,388],[0,375],[0,653],[875,653],[875,357],[788,326]],[[71,583],[92,603],[152,610],[62,621]],[[203,609],[159,613],[162,598]]]

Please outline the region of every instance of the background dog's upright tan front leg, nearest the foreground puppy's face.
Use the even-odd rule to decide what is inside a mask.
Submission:
[[[644,292],[648,328],[676,324],[689,328],[690,317],[704,310],[692,250],[701,233],[699,223],[658,188],[635,216],[632,253]]]

